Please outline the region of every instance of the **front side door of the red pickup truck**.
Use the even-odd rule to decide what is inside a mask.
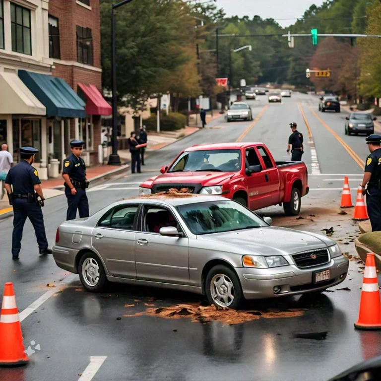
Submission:
[[[253,165],[261,165],[263,167],[254,147],[245,150],[245,165],[246,168]],[[266,206],[269,191],[265,171],[262,169],[262,171],[258,173],[246,173],[246,181],[249,193],[249,208],[256,210]]]

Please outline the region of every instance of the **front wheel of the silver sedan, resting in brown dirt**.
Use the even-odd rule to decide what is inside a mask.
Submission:
[[[217,289],[215,283],[219,281],[222,283],[220,289]],[[228,296],[229,288],[230,296]],[[233,310],[240,306],[243,299],[242,287],[237,274],[224,264],[217,264],[209,270],[205,278],[205,293],[210,304]],[[224,301],[223,296],[225,295]]]

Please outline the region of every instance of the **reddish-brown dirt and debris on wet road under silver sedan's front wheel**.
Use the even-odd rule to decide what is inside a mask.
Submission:
[[[144,312],[125,315],[126,318],[151,316],[166,319],[190,318],[193,322],[209,323],[219,321],[223,324],[241,324],[260,318],[296,318],[304,315],[306,309],[267,309],[266,311],[217,309],[204,303],[177,304],[170,307],[148,308]]]

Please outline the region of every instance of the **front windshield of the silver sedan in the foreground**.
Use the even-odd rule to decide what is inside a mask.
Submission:
[[[182,205],[178,210],[193,234],[211,234],[268,226],[235,201],[206,201]]]

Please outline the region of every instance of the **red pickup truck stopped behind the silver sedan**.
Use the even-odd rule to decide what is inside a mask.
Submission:
[[[195,145],[160,172],[140,185],[139,194],[188,188],[220,194],[251,210],[283,203],[287,215],[297,215],[309,191],[304,162],[274,161],[263,143]]]

